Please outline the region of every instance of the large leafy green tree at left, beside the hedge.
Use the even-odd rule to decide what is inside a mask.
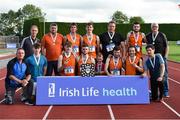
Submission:
[[[44,20],[45,13],[39,7],[27,4],[18,11],[9,10],[8,13],[0,14],[0,33],[3,35],[14,35],[23,32],[23,24],[25,20],[38,18]]]

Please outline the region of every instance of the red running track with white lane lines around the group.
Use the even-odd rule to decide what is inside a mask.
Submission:
[[[0,105],[0,119],[179,119],[180,64],[169,62],[168,65],[171,97],[165,99],[164,103],[111,106],[27,106],[20,102],[20,91],[18,91],[15,105]],[[5,75],[5,69],[2,71]],[[3,97],[4,80],[0,80],[0,100]],[[171,110],[165,104],[169,105]]]

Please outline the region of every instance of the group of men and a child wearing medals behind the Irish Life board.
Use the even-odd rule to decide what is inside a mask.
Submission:
[[[169,97],[168,43],[165,34],[159,32],[159,25],[152,23],[152,32],[145,35],[136,22],[126,40],[115,31],[114,21],[110,21],[107,28],[107,32],[98,36],[93,33],[93,23],[87,23],[86,34],[81,36],[77,33],[77,24],[72,23],[70,33],[63,36],[57,32],[58,25],[52,23],[50,32],[40,41],[36,37],[38,27],[32,25],[31,35],[23,39],[16,58],[7,65],[5,103],[13,104],[15,90],[23,87],[21,100],[30,104],[32,95],[35,96],[38,76],[81,75],[82,64],[94,64],[97,75],[147,76],[149,71],[152,100]],[[143,42],[147,43],[148,59],[145,63]]]

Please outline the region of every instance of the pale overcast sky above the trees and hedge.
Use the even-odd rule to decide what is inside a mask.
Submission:
[[[141,16],[146,23],[180,23],[180,0],[0,0],[0,12],[34,4],[47,21],[108,22],[119,10],[128,17]]]

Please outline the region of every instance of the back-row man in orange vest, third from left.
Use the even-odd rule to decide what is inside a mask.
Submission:
[[[70,33],[66,35],[66,37],[64,39],[64,43],[66,41],[71,42],[74,55],[79,56],[82,37],[81,37],[81,35],[77,34],[76,32],[77,32],[77,24],[71,23]]]

